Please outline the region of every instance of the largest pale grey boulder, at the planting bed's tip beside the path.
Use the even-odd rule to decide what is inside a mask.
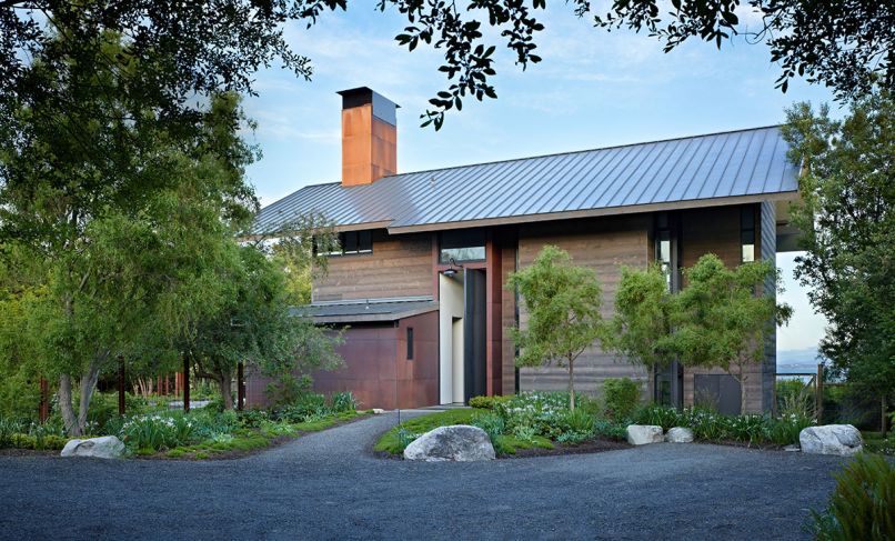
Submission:
[[[425,462],[494,460],[494,447],[484,430],[467,424],[439,427],[404,449],[404,459]]]

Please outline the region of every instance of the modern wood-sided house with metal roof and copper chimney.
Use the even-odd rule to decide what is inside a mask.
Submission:
[[[340,94],[341,182],[268,206],[255,228],[275,231],[310,212],[335,224],[342,249],[303,310],[348,325],[346,367],[315,374],[315,387],[351,390],[369,408],[565,389],[563,369],[516,369],[505,331],[525,324],[507,275],[544,244],[596,271],[606,317],[622,266],[661,262],[677,290],[680,269],[707,252],[734,267],[792,244],[785,209],[797,168],[777,127],[399,173],[398,106],[369,88]],[[575,387],[597,393],[604,379],[625,375],[661,402],[707,397],[740,410],[740,385],[723,371],[647,373],[596,348],[576,361]],[[772,408],[774,381],[772,340],[746,379],[748,410]],[[249,381],[249,403],[263,401],[263,389]]]

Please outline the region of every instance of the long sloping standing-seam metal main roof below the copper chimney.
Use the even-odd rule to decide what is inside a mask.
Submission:
[[[767,127],[315,184],[262,209],[255,232],[311,212],[340,229],[410,232],[792,197],[787,150]]]

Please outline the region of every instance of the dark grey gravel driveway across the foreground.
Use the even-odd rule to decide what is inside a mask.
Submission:
[[[240,460],[0,457],[0,539],[801,539],[829,457],[661,443],[376,459],[379,415]]]

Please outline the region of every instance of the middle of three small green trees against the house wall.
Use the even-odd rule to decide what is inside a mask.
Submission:
[[[658,266],[646,270],[623,267],[615,291],[615,315],[606,345],[650,370],[667,365],[673,358],[673,298],[666,280]]]

